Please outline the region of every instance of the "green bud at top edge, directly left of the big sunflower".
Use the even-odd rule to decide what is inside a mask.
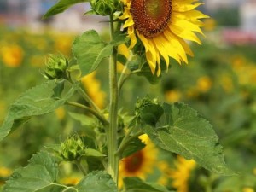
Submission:
[[[90,6],[96,15],[111,15],[122,8],[119,0],[90,0]]]

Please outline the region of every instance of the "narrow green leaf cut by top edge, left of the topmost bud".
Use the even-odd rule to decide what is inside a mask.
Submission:
[[[43,19],[46,19],[52,15],[60,14],[66,9],[68,9],[70,6],[76,3],[83,3],[83,2],[89,2],[89,0],[60,0],[58,3],[56,3],[53,7],[51,7],[46,12],[46,14],[43,16]]]

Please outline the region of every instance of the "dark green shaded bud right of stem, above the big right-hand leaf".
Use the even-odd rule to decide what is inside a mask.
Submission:
[[[164,109],[156,99],[145,97],[137,100],[135,105],[135,115],[143,124],[155,125],[163,113]]]

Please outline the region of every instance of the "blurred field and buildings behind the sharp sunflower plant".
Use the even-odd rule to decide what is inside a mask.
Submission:
[[[86,30],[93,28],[103,36],[108,35],[108,18],[83,15],[90,10],[89,3],[79,3],[63,14],[42,20],[42,15],[55,3],[54,0],[0,0],[0,124],[10,103],[20,93],[45,81],[41,75],[45,56],[61,52],[71,58],[73,39]],[[179,192],[206,191],[203,187],[206,182],[212,182],[209,191],[253,192],[256,191],[256,0],[204,0],[204,3],[200,9],[211,18],[205,20],[206,37],[201,37],[202,45],[190,44],[195,57],[189,58],[189,65],[179,66],[172,61],[172,68],[163,74],[160,84],[150,85],[143,77],[129,79],[123,87],[121,104],[125,112],[131,113],[131,102],[147,94],[160,101],[186,102],[214,126],[228,165],[241,175],[219,177],[196,166],[182,174],[188,179],[180,182],[185,182],[188,188]],[[84,89],[100,108],[108,103],[106,66],[83,79]],[[73,119],[67,108],[33,118],[0,143],[0,185],[15,168],[25,166],[40,148],[82,130],[79,120]],[[177,166],[173,163],[176,159],[168,159],[162,153],[161,160],[178,172],[178,167],[173,166]],[[178,161],[181,167],[182,162]],[[79,176],[70,175],[68,167],[62,172],[65,175],[62,183],[76,183]],[[177,178],[169,173],[166,177],[170,181],[165,184],[172,186]]]

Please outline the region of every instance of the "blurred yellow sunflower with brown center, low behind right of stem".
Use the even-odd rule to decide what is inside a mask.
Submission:
[[[147,145],[142,150],[131,156],[120,160],[119,164],[119,186],[123,186],[124,177],[140,177],[145,179],[157,163],[158,150],[148,136],[144,134],[140,137]]]

